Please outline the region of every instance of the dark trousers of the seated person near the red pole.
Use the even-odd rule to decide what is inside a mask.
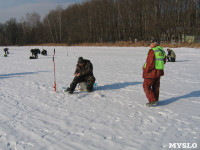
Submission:
[[[92,90],[93,85],[95,83],[95,77],[93,75],[84,76],[84,77],[82,76],[74,77],[72,83],[70,84],[70,90],[73,92],[77,84],[81,82],[86,82],[87,90]]]

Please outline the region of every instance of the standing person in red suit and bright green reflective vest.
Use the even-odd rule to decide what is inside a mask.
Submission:
[[[156,105],[159,100],[160,77],[164,75],[164,64],[166,54],[158,42],[150,44],[146,63],[143,66],[143,88],[149,103],[146,105]]]

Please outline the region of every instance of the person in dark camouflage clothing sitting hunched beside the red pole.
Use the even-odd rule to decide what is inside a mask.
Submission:
[[[83,59],[83,57],[78,58],[76,70],[74,73],[74,79],[70,84],[70,87],[68,87],[66,91],[69,94],[73,94],[77,84],[81,82],[86,82],[87,91],[92,92],[93,85],[95,83],[95,77],[93,75],[93,65],[89,60]]]

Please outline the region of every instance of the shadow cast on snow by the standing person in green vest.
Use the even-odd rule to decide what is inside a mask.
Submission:
[[[170,99],[166,99],[166,100],[163,100],[163,101],[159,101],[159,104],[158,106],[164,106],[164,105],[169,105],[175,101],[178,101],[182,98],[191,98],[191,97],[200,97],[200,91],[193,91],[193,92],[190,92],[186,95],[183,95],[183,96],[178,96],[178,97],[172,97]]]

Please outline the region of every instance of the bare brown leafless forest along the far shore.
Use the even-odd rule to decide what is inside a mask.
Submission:
[[[200,35],[200,0],[88,0],[0,24],[0,45],[183,42]]]

